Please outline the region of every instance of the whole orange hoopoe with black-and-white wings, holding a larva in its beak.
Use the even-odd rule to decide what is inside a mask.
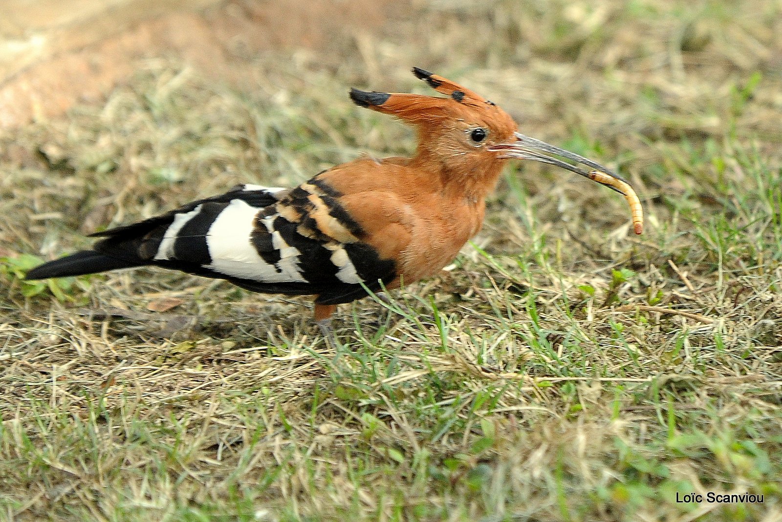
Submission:
[[[227,279],[261,293],[312,295],[321,330],[337,304],[439,272],[482,225],[486,195],[506,160],[557,165],[626,195],[635,232],[640,203],[606,167],[519,134],[500,107],[428,71],[446,97],[350,91],[357,105],[418,130],[412,158],[363,157],[293,189],[238,185],[156,218],[98,232],[92,250],[50,261],[27,279],[154,265]],[[593,171],[552,157],[556,154]]]

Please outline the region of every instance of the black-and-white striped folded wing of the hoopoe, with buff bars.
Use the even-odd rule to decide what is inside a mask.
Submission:
[[[228,279],[263,293],[318,294],[321,304],[379,290],[396,276],[361,242],[363,230],[339,204],[339,194],[317,178],[295,189],[239,185],[159,218],[103,236],[95,250],[126,252],[145,264]]]

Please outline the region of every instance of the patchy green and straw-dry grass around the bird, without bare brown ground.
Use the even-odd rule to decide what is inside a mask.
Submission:
[[[778,2],[411,9],[258,56],[251,88],[150,60],[0,136],[0,520],[779,520]],[[238,182],[409,152],[344,93],[423,92],[414,64],[618,167],[644,236],[615,193],[518,165],[448,272],[343,306],[334,348],[303,299],[20,280]],[[676,502],[707,491],[764,502]]]

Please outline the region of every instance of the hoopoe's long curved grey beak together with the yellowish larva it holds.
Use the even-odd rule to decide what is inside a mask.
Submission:
[[[488,149],[499,152],[499,157],[502,158],[533,160],[561,167],[615,190],[622,194],[622,196],[625,196],[627,202],[630,203],[630,212],[633,215],[633,232],[640,234],[644,231],[644,211],[640,206],[640,200],[633,190],[633,187],[630,186],[630,183],[626,182],[621,176],[599,163],[579,156],[576,153],[569,152],[568,150],[555,147],[547,142],[542,142],[540,139],[530,138],[529,136],[523,135],[521,132],[515,132],[514,135],[516,138],[514,141],[497,143],[489,146]],[[569,164],[559,157],[571,160],[576,164],[591,167],[591,170],[587,171],[577,165]]]

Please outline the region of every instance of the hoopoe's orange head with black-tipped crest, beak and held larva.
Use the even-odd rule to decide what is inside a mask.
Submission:
[[[508,113],[468,88],[418,67],[413,67],[413,74],[445,97],[350,90],[353,103],[390,114],[418,129],[418,149],[411,164],[436,172],[447,184],[459,185],[479,197],[493,188],[507,160],[562,167],[625,195],[633,208],[635,231],[640,233],[640,202],[619,175],[576,153],[522,135]]]

